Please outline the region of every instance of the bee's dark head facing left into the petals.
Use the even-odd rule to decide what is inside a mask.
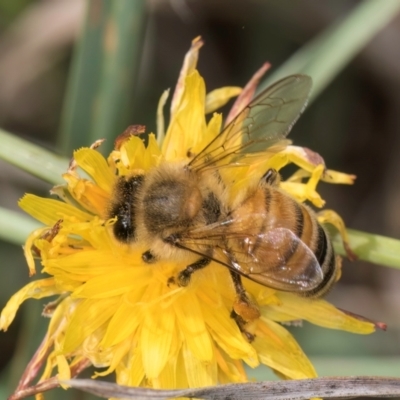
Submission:
[[[109,218],[117,217],[113,233],[117,240],[129,243],[135,240],[135,216],[138,191],[143,185],[144,176],[136,175],[118,178],[114,187],[114,200],[109,208]]]

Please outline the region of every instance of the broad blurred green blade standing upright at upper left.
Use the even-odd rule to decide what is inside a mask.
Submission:
[[[110,150],[131,123],[144,19],[144,0],[89,2],[61,122],[64,154],[99,138]]]

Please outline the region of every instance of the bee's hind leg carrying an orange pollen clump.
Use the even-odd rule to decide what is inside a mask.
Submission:
[[[246,325],[247,323],[259,318],[260,311],[257,305],[249,299],[246,290],[243,287],[241,276],[232,270],[229,272],[231,274],[237,295],[231,312],[231,318],[235,320],[240,331],[247,337],[247,340],[252,342],[255,338],[255,335],[246,330]]]

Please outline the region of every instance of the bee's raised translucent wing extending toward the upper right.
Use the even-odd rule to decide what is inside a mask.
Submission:
[[[289,133],[307,105],[312,80],[291,75],[275,82],[250,102],[215,137],[189,166],[202,170],[235,162],[244,154],[257,153],[279,142]]]

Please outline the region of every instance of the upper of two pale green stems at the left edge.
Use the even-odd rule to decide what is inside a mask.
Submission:
[[[0,158],[52,184],[62,182],[68,160],[0,129]]]

